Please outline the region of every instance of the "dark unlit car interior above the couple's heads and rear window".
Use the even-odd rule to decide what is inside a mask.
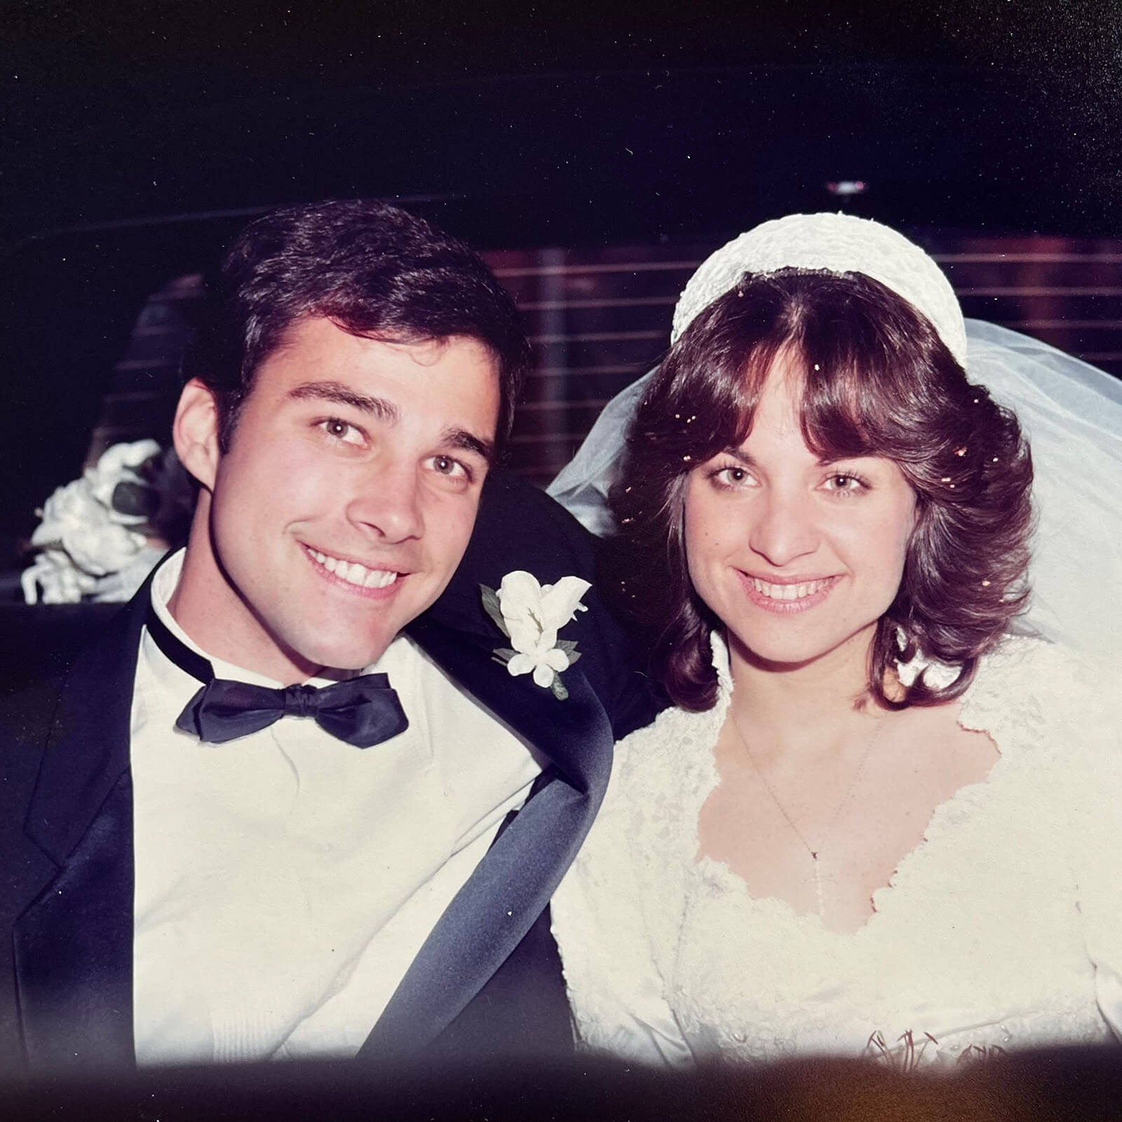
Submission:
[[[0,569],[145,295],[259,210],[715,243],[860,178],[905,228],[1118,237],[1120,75],[1118,0],[2,3]]]

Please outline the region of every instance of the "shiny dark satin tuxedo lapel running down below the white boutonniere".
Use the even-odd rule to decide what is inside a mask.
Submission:
[[[409,633],[558,774],[502,833],[430,932],[359,1050],[371,1058],[416,1052],[434,1040],[503,964],[576,855],[611,770],[611,727],[578,665],[565,672],[569,695],[559,701],[529,675],[511,678],[493,660],[490,638],[431,620]]]

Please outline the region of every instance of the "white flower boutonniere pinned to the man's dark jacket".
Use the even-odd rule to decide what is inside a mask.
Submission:
[[[589,609],[581,597],[592,586],[580,577],[562,577],[556,585],[539,585],[531,573],[516,570],[507,573],[496,592],[481,585],[484,610],[510,640],[510,646],[495,652],[495,661],[507,666],[512,677],[533,674],[533,681],[564,700],[568,690],[560,672],[581,657],[576,643],[557,638],[557,632],[577,611]]]

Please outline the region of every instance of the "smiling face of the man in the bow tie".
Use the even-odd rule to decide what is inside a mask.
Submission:
[[[237,654],[222,656],[293,681],[375,661],[463,557],[498,411],[495,364],[473,339],[295,323],[209,484],[222,646]]]

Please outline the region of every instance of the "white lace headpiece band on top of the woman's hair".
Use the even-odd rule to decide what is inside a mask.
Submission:
[[[710,255],[682,291],[671,342],[677,342],[693,318],[744,273],[786,268],[864,273],[879,280],[925,315],[959,365],[966,366],[966,324],[942,270],[902,233],[854,214],[788,214],[733,238]]]

